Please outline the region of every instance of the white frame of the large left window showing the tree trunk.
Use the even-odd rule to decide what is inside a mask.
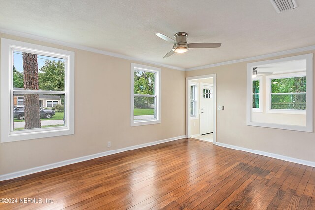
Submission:
[[[13,51],[65,59],[65,126],[13,131],[13,93],[35,94],[40,90],[13,90]],[[1,38],[1,143],[74,134],[74,52]]]

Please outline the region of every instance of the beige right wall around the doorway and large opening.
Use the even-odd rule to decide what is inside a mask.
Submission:
[[[270,59],[307,53],[315,51]],[[314,133],[246,125],[246,65],[247,62],[241,62],[186,72],[186,77],[217,74],[217,104],[225,106],[224,111],[217,110],[217,142],[315,162]],[[313,81],[314,77],[315,74]]]

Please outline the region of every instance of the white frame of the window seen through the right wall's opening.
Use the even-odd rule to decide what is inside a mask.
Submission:
[[[266,76],[266,112],[268,113],[281,113],[281,114],[298,114],[306,115],[306,110],[294,110],[294,109],[271,109],[271,80],[272,79],[284,79],[292,77],[306,77],[306,72],[289,73],[289,74],[277,74]],[[307,94],[307,93],[306,93]]]

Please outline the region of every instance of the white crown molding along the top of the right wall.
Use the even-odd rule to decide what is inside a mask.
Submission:
[[[315,45],[311,45],[311,46],[307,46],[307,47],[301,47],[301,48],[295,48],[295,49],[291,49],[291,50],[284,50],[284,51],[264,54],[264,55],[260,55],[260,56],[253,56],[253,57],[249,57],[249,58],[245,58],[245,59],[230,60],[230,61],[214,63],[214,64],[209,64],[209,65],[203,65],[203,66],[198,66],[198,67],[193,67],[193,68],[186,68],[185,71],[193,71],[193,70],[211,68],[211,67],[216,67],[216,66],[221,66],[221,65],[229,65],[229,64],[233,64],[233,63],[266,59],[266,58],[270,58],[270,57],[283,56],[283,55],[292,54],[292,53],[300,53],[300,52],[305,52],[305,51],[309,51],[309,50],[315,50]]]

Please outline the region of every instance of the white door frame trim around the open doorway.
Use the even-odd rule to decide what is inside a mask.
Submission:
[[[216,74],[207,74],[194,77],[186,77],[186,138],[190,138],[190,84],[194,79],[205,79],[213,77],[213,144],[217,142],[217,78]]]

